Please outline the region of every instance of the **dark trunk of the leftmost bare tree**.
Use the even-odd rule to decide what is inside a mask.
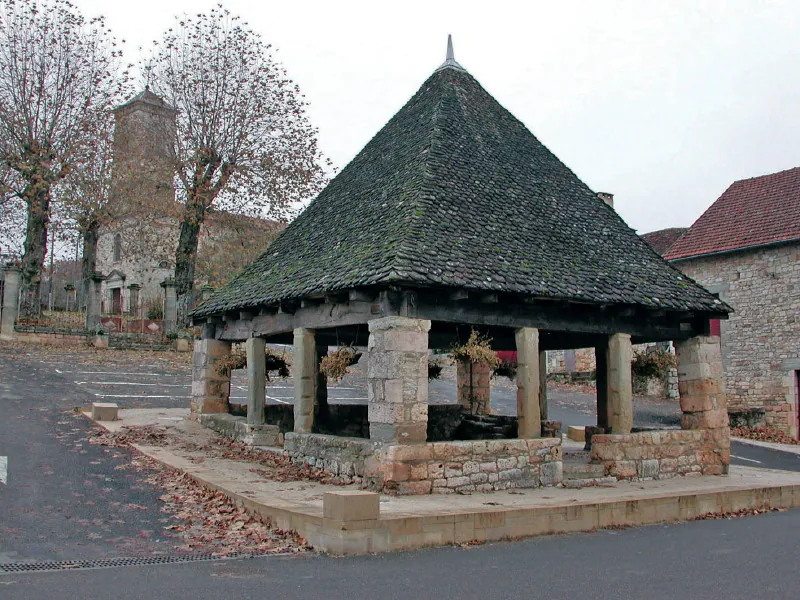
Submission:
[[[28,209],[28,222],[22,255],[20,316],[35,317],[42,308],[42,267],[47,254],[47,226],[50,223],[50,184],[43,178],[29,183],[23,197]]]

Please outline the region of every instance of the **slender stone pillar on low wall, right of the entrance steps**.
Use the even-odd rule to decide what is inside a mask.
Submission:
[[[633,386],[631,382],[631,336],[615,333],[608,338],[606,394],[608,427],[611,433],[630,433],[633,427]]]

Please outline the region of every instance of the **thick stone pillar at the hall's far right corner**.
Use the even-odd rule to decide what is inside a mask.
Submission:
[[[675,343],[683,429],[728,427],[728,402],[719,336]]]

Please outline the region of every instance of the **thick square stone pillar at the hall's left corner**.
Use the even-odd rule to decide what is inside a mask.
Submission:
[[[230,371],[220,372],[219,362],[231,353],[230,342],[213,338],[195,340],[192,355],[191,416],[227,413],[231,395]]]

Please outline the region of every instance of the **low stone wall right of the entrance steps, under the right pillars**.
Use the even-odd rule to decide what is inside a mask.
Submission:
[[[724,475],[730,464],[730,432],[720,428],[596,434],[590,456],[617,479]]]

